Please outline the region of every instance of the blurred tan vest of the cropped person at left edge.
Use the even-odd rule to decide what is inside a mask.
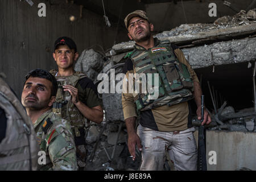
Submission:
[[[1,77],[0,107],[7,118],[6,136],[0,143],[0,170],[36,170],[39,148],[32,122]]]

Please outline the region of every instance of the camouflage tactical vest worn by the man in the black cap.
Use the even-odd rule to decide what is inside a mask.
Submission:
[[[57,70],[51,70],[50,73],[55,76]],[[76,87],[77,82],[84,77],[86,77],[86,75],[82,72],[75,72],[72,76],[55,76],[58,89],[56,100],[52,105],[52,112],[70,122],[73,134],[76,137],[80,137],[80,128],[88,127],[88,121],[73,104],[71,94],[68,91],[64,92],[63,86],[72,85]]]

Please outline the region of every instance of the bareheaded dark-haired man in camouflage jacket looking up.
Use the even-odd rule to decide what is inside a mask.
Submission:
[[[39,170],[77,170],[76,147],[69,123],[52,113],[57,81],[49,72],[28,73],[22,92],[22,105],[31,118],[40,147]]]

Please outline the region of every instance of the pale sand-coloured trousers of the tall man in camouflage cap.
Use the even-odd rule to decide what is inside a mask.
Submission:
[[[137,134],[143,146],[140,170],[163,170],[168,154],[175,170],[195,171],[197,146],[193,131],[193,127],[174,132],[155,131],[139,125]]]

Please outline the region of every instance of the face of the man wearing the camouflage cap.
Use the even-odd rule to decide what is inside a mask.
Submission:
[[[146,19],[139,16],[131,18],[128,25],[128,36],[135,42],[143,42],[150,39],[151,31],[154,30],[154,26],[148,23]]]

